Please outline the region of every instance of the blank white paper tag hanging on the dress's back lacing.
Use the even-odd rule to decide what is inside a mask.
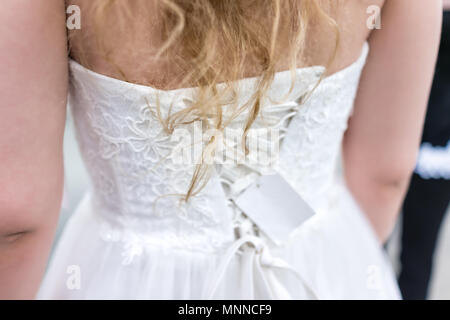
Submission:
[[[276,245],[315,214],[278,173],[260,176],[234,202]]]

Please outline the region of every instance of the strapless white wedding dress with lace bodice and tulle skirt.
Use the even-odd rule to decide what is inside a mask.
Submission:
[[[400,298],[388,259],[339,170],[368,51],[366,43],[357,61],[325,77],[306,102],[299,99],[316,84],[321,66],[296,70],[287,102],[262,105],[255,128],[282,132],[275,170],[316,213],[281,245],[252,233],[230,201],[252,184],[258,167],[218,165],[187,203],[167,196],[186,192],[194,165],[170,156],[176,141],[154,106],[159,99],[164,118],[186,107],[195,88],[157,90],[70,61],[69,104],[91,188],[65,227],[37,297]],[[270,97],[288,93],[290,76],[276,73]],[[250,96],[255,81],[237,80],[239,99]]]

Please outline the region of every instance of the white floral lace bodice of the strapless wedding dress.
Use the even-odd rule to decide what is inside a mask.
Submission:
[[[325,77],[304,103],[300,100],[317,83],[324,68],[296,70],[292,92],[290,72],[278,72],[262,116],[254,129],[278,129],[276,162],[269,165],[316,210],[327,206],[343,133],[351,114],[361,70],[368,53],[349,67]],[[158,90],[112,79],[70,62],[69,104],[77,139],[92,182],[92,204],[105,221],[102,237],[123,241],[126,261],[142,251],[142,244],[159,241],[168,247],[209,250],[233,238],[236,212],[229,199],[251,183],[262,167],[216,164],[206,187],[188,202],[179,200],[189,186],[195,163],[180,161],[183,142],[194,124],[181,134],[167,134],[155,110],[159,99],[162,118],[193,99],[195,88]],[[243,101],[256,78],[237,80]],[[242,115],[242,116],[245,116]],[[239,127],[241,116],[230,128]],[[262,134],[266,134],[263,131]],[[194,143],[195,144],[195,143]],[[180,149],[181,146],[181,149]],[[163,241],[160,241],[163,239]],[[205,241],[207,239],[207,241]]]

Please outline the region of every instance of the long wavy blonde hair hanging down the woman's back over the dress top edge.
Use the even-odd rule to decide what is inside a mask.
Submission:
[[[327,3],[332,6],[333,1]],[[157,8],[162,23],[162,45],[152,59],[170,61],[185,71],[178,87],[198,87],[192,105],[160,119],[164,130],[171,134],[186,119],[190,122],[194,119],[201,121],[206,129],[223,131],[235,116],[246,110],[248,118],[242,128],[242,146],[246,151],[247,133],[260,112],[261,100],[280,62],[288,61],[292,75],[289,92],[293,89],[295,69],[306,49],[310,25],[320,20],[336,30],[336,48],[330,54],[329,64],[339,41],[337,25],[326,12],[324,1],[319,4],[316,0],[158,0]],[[97,0],[97,45],[104,59],[127,81],[126,72],[111,60],[102,42],[104,21],[111,10],[123,17],[117,23],[133,21],[128,1]],[[257,85],[252,97],[244,105],[238,105],[237,99],[230,101],[230,97],[238,96],[233,80],[246,77],[243,66],[250,61],[258,68]],[[159,110],[160,106],[156,108]],[[232,108],[233,116],[225,118],[224,108]],[[213,144],[213,139],[207,144]],[[196,166],[185,200],[206,184],[209,169],[206,163]]]

